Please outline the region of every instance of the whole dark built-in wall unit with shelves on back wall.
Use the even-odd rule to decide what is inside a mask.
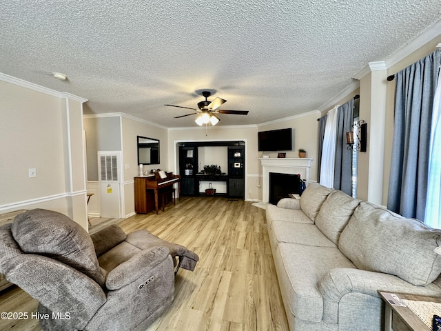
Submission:
[[[198,174],[198,146],[227,146],[227,174],[214,176],[216,178]],[[213,145],[207,142],[185,143],[185,146],[179,146],[179,174],[181,174],[183,196],[203,194],[199,193],[199,181],[225,181],[227,197],[245,199],[245,143],[243,141],[216,142]]]

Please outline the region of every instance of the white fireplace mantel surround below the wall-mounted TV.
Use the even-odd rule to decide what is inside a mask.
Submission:
[[[309,168],[311,168],[310,158],[260,158],[262,164],[262,200],[267,203],[269,201],[269,173],[278,174],[300,174],[305,179],[306,185],[309,184]]]

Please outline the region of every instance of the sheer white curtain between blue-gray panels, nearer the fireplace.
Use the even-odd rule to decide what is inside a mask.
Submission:
[[[327,188],[334,188],[338,107],[340,106],[335,106],[327,113],[325,136],[323,137],[320,184]]]

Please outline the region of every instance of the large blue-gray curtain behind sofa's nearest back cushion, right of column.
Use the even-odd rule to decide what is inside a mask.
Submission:
[[[391,174],[387,208],[424,221],[429,143],[441,51],[413,63],[396,77]]]

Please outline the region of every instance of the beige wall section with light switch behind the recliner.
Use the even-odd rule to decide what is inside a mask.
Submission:
[[[46,208],[88,227],[84,101],[0,74],[0,212]]]

